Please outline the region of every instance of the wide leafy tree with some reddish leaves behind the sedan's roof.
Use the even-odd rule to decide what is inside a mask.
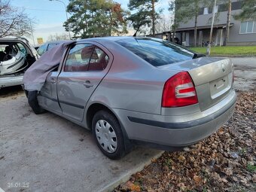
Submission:
[[[75,36],[89,38],[127,33],[127,12],[111,0],[70,0],[67,11],[72,14],[69,28]],[[67,22],[63,26],[68,30]]]

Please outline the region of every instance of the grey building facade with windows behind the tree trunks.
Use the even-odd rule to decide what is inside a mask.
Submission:
[[[256,0],[255,0],[256,1]],[[256,44],[256,21],[234,20],[233,15],[238,14],[242,8],[242,1],[232,0],[230,18],[230,37],[227,45],[255,45]],[[197,19],[197,45],[206,46],[209,42],[209,34],[212,23],[212,11],[214,8],[200,8]],[[212,32],[212,43],[223,45],[224,34],[227,29],[227,5],[219,4],[215,8],[216,19]],[[194,46],[194,18],[187,23],[181,23],[175,37],[185,46]]]

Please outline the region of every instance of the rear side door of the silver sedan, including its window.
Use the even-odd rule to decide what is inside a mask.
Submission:
[[[57,81],[62,114],[74,120],[83,119],[91,94],[107,74],[109,56],[94,44],[75,44],[69,50]]]

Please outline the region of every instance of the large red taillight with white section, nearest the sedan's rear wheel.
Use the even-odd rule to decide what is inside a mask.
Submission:
[[[197,102],[197,92],[188,72],[179,72],[164,84],[163,108],[182,107],[193,105]]]

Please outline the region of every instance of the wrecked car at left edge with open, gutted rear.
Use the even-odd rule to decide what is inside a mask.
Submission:
[[[0,88],[21,85],[24,72],[38,57],[25,38],[0,38]]]

